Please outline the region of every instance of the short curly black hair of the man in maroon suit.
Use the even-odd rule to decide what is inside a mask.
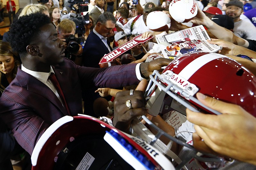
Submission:
[[[27,46],[40,33],[40,28],[50,24],[49,16],[37,12],[31,15],[20,16],[13,20],[9,29],[9,42],[14,51],[20,55],[27,53]]]

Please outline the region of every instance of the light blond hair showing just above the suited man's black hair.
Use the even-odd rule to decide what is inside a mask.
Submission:
[[[25,6],[22,11],[20,12],[20,16],[33,14],[36,12],[43,13],[44,11],[48,11],[48,8],[42,4],[28,4]]]

